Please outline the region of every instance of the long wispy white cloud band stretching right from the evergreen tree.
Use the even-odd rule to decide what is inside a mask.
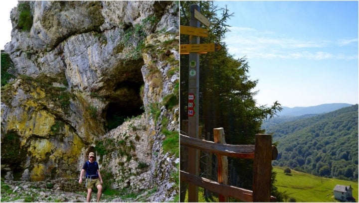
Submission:
[[[258,31],[250,27],[231,27],[224,40],[230,51],[237,57],[265,59],[358,59],[358,52],[352,55],[336,53],[338,43],[329,40],[304,40],[281,37],[270,31]],[[357,39],[339,40],[339,44],[349,44]],[[334,51],[333,51],[334,50]]]

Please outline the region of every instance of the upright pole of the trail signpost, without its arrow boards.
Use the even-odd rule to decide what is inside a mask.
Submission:
[[[199,21],[194,17],[194,13],[200,11],[197,4],[190,5],[191,19],[189,26],[199,27]],[[199,36],[189,35],[190,44],[199,44]],[[199,54],[189,53],[188,68],[188,103],[193,107],[188,107],[188,136],[199,138]],[[188,148],[188,172],[198,176],[198,155],[197,149]],[[198,187],[188,184],[188,202],[198,202]]]

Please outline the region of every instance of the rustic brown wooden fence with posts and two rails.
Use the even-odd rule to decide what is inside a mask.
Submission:
[[[218,160],[218,182],[214,182],[185,171],[180,171],[180,181],[187,182],[189,186],[199,186],[218,193],[219,202],[227,202],[228,197],[236,198],[243,202],[276,202],[276,198],[270,195],[271,192],[271,161],[275,160],[278,151],[272,146],[271,135],[256,134],[255,145],[229,145],[224,140],[223,128],[213,129],[214,142],[200,140],[180,134],[182,146],[195,148],[202,151],[214,153]],[[253,191],[227,185],[228,163],[227,156],[240,159],[254,159],[253,162]],[[198,157],[191,157],[189,160],[198,161]],[[189,197],[197,197],[197,190],[188,190]],[[197,200],[193,199],[192,200]]]

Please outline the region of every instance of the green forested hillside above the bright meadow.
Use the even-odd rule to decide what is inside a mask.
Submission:
[[[358,104],[266,129],[278,143],[273,165],[358,180]]]

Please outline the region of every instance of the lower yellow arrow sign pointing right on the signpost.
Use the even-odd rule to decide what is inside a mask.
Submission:
[[[215,52],[222,49],[222,45],[219,43],[214,44],[180,44],[179,53],[200,53],[200,52]]]

